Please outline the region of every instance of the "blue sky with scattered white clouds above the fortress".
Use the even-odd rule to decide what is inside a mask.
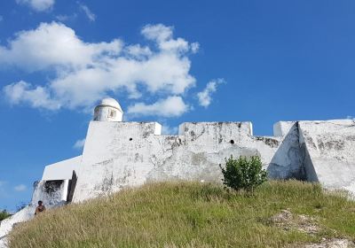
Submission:
[[[353,118],[354,12],[350,0],[2,1],[0,208],[28,202],[45,165],[82,152],[102,97],[168,133]]]

